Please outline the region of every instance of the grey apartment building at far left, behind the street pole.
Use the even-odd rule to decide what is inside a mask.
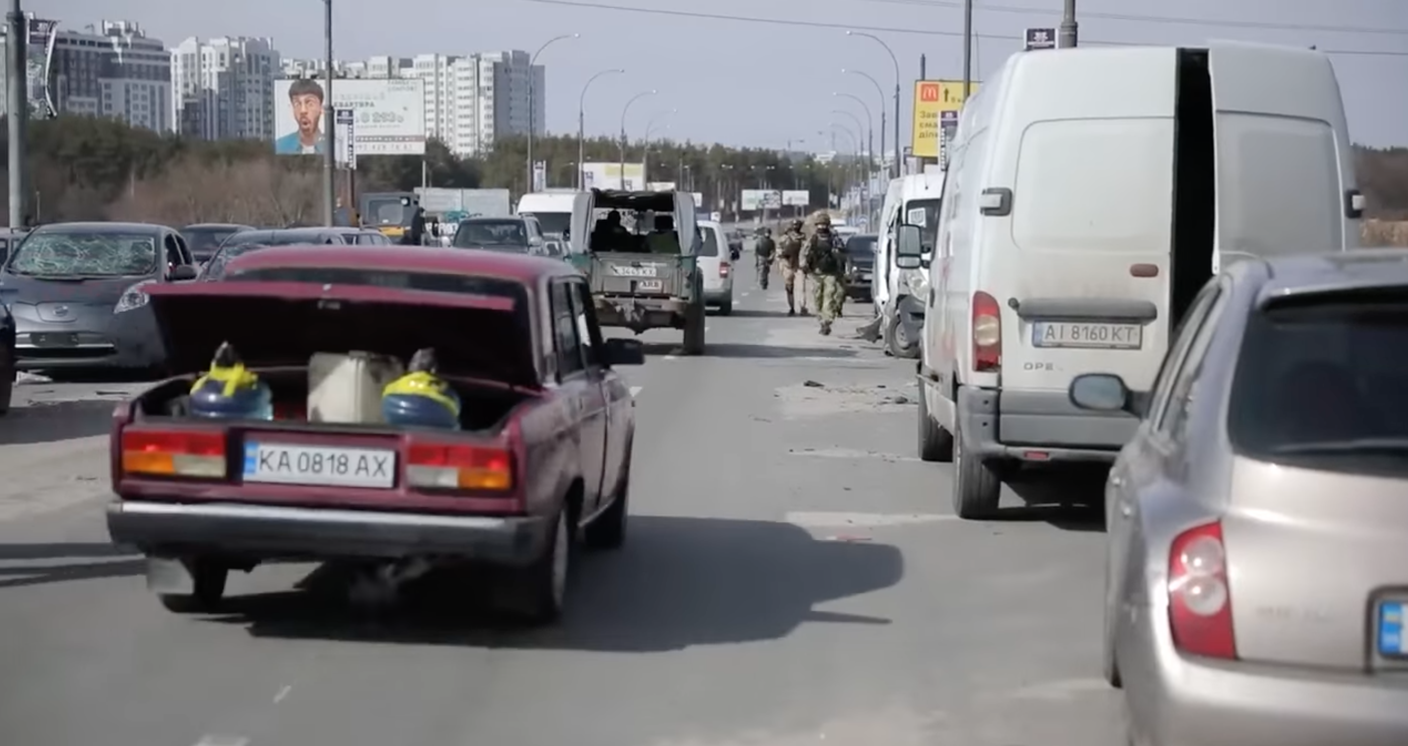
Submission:
[[[170,53],[131,21],[59,30],[49,86],[59,114],[114,117],[159,132],[175,129]]]

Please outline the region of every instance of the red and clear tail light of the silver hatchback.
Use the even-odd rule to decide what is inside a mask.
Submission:
[[[1236,659],[1232,591],[1218,522],[1190,528],[1169,550],[1169,628],[1190,656]]]

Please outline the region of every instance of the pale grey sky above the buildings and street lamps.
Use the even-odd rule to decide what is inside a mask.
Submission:
[[[638,10],[612,10],[620,7]],[[66,28],[137,21],[168,45],[193,35],[273,37],[284,56],[297,58],[318,56],[322,46],[320,0],[30,0],[27,8]],[[1055,27],[1062,0],[977,0],[976,8],[981,79],[1021,48],[1024,28]],[[1083,44],[1222,38],[1390,52],[1332,59],[1354,139],[1408,145],[1408,0],[1080,0],[1079,10]],[[880,44],[848,38],[845,28],[881,37],[898,58],[901,142],[919,55],[928,56],[928,77],[962,77],[960,0],[334,0],[334,24],[339,59],[532,52],[559,34],[580,34],[538,58],[548,66],[553,132],[576,131],[582,86],[593,73],[624,68],[591,86],[589,134],[618,131],[625,101],[655,89],[629,111],[632,138],[655,121],[656,137],[767,148],[804,139],[807,149],[829,149],[834,122],[856,127],[835,110],[866,120],[860,104],[832,96],[845,91],[870,107],[879,146],[880,93],[841,69],[870,73],[893,108],[894,65]]]

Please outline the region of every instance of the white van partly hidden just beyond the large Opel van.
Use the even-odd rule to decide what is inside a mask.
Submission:
[[[943,172],[914,173],[890,182],[880,210],[881,229],[876,241],[876,269],[872,298],[881,317],[880,339],[895,358],[919,356],[926,293],[924,272],[900,269],[894,263],[894,236],[900,224],[918,225],[925,244],[924,259],[934,251],[935,227],[943,196]]]

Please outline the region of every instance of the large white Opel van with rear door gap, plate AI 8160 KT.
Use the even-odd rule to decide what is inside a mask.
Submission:
[[[1319,52],[1010,58],[960,114],[929,267],[919,456],[953,460],[955,511],[991,515],[1012,463],[1114,460],[1138,422],[1076,410],[1070,380],[1150,390],[1221,265],[1357,248],[1353,162]],[[901,265],[919,234],[901,228]]]

